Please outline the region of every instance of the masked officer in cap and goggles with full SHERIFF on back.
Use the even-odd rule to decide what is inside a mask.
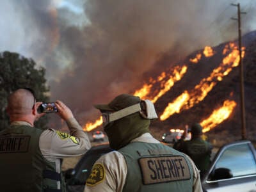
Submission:
[[[150,100],[121,94],[95,108],[102,113],[104,131],[114,151],[95,162],[85,192],[202,191],[193,161],[150,134],[150,120],[157,118]]]

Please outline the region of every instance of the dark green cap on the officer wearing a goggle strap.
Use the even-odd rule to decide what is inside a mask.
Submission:
[[[109,104],[95,104],[93,106],[100,111],[119,111],[139,102],[140,97],[129,94],[121,94],[115,97],[115,99],[109,102]]]

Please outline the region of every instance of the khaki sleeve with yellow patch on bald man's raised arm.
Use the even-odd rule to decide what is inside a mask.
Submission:
[[[70,134],[47,129],[40,136],[39,146],[43,156],[49,161],[63,157],[79,156],[90,147],[90,140],[75,118],[67,121]]]

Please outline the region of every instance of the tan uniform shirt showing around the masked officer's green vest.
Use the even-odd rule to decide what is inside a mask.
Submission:
[[[147,142],[147,143],[160,143],[158,140],[152,137],[150,133],[145,133],[134,141]],[[189,157],[188,157],[189,158]],[[189,158],[190,159],[190,158]],[[196,168],[193,161],[190,159],[193,166],[193,191],[201,192],[202,186],[200,182],[199,171]],[[100,157],[95,164],[102,164],[104,167],[105,176],[104,179],[95,186],[86,185],[84,192],[98,192],[98,191],[122,191],[125,184],[125,179],[127,175],[127,164],[125,162],[124,156],[120,152],[113,151]]]

